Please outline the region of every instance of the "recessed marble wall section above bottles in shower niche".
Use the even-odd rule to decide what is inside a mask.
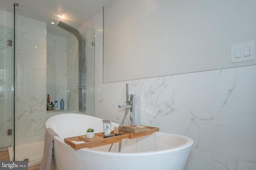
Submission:
[[[50,102],[64,100],[67,109],[67,38],[47,33],[47,76],[46,94]]]

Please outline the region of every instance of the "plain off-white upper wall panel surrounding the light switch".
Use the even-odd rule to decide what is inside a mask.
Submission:
[[[256,39],[255,6],[112,0],[104,7],[104,83],[256,64],[230,60],[231,46]]]

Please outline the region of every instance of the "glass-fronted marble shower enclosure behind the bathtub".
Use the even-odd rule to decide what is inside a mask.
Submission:
[[[59,22],[81,34],[86,57],[82,68],[78,39],[57,26]],[[94,29],[17,4],[14,35],[14,160],[32,162],[42,158],[49,117],[73,112],[94,116]],[[81,86],[86,92],[86,111],[79,109]],[[48,94],[50,102],[58,101],[58,109],[63,99],[64,110],[47,111]]]

